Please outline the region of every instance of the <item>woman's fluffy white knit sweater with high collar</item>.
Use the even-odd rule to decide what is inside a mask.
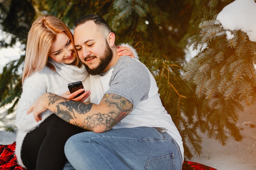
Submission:
[[[46,110],[41,115],[42,120],[36,122],[32,113],[29,115],[26,114],[31,104],[44,93],[51,92],[57,95],[63,94],[65,91],[68,91],[67,84],[76,81],[83,82],[85,90],[90,90],[89,75],[84,66],[78,68],[72,65],[56,63],[51,59],[49,60],[56,67],[56,72],[45,66],[42,71],[35,72],[27,77],[22,86],[22,95],[20,96],[16,112],[16,126],[18,128],[16,156],[18,158],[18,163],[22,167],[25,166],[22,163],[20,151],[25,136],[52,114],[52,112]]]

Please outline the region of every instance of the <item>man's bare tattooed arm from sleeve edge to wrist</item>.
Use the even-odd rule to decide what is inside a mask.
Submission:
[[[116,94],[105,94],[99,105],[65,99],[53,93],[47,94],[49,110],[70,124],[94,132],[110,130],[133,108],[129,100]]]

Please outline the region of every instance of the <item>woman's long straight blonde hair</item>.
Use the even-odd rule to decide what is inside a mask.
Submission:
[[[48,62],[48,54],[52,44],[56,40],[58,33],[64,32],[70,38],[74,46],[73,34],[67,25],[60,19],[52,15],[42,15],[37,18],[32,24],[28,36],[26,46],[25,63],[22,73],[22,83],[25,78],[34,71],[41,71],[45,66],[48,66],[55,71],[55,67]],[[77,52],[74,48],[76,56],[72,63],[75,66],[81,67]]]

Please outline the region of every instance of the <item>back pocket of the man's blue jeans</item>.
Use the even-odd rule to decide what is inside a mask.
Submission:
[[[175,170],[174,154],[148,159],[144,170]]]

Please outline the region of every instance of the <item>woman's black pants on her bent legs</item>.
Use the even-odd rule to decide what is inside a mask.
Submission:
[[[22,144],[21,159],[28,170],[62,170],[67,162],[64,145],[69,137],[86,130],[52,114]]]

